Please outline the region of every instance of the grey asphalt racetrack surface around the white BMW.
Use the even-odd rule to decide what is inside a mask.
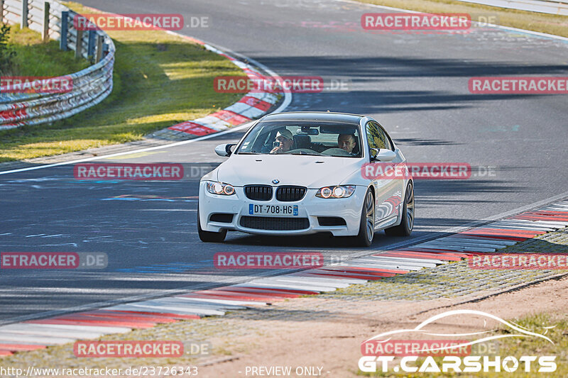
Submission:
[[[180,33],[251,57],[280,75],[346,83],[342,90],[293,94],[286,111],[373,116],[408,161],[471,165],[470,179],[417,180],[412,237],[378,233],[372,250],[435,238],[567,191],[566,96],[468,90],[471,77],[568,76],[566,41],[489,27],[467,34],[371,33],[360,27],[361,14],[386,10],[341,1],[81,2],[114,13],[208,16],[209,27]],[[236,142],[243,133],[97,162],[214,166],[223,161],[214,147]],[[224,244],[202,243],[197,189],[197,178],[78,181],[72,165],[0,175],[1,251],[108,255],[106,269],[3,269],[0,322],[277,273],[214,269],[216,252],[321,251],[329,259],[370,252],[325,236],[229,233]]]

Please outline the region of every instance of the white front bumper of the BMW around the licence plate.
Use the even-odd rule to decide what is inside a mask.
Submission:
[[[277,187],[273,187],[275,191]],[[359,233],[361,223],[361,209],[366,194],[366,187],[356,187],[354,194],[345,199],[322,199],[316,197],[317,189],[307,189],[307,193],[300,201],[283,202],[275,198],[270,201],[253,201],[246,198],[243,187],[235,187],[235,194],[231,196],[219,196],[211,194],[205,189],[205,182],[200,182],[199,194],[199,214],[200,224],[203,230],[219,232],[221,230],[241,231],[259,235],[307,235],[312,233],[330,232],[334,236],[352,236]],[[297,216],[266,216],[254,215],[249,213],[249,205],[297,205]],[[227,222],[212,221],[214,214],[232,214],[232,220]],[[252,225],[249,219],[254,218],[287,218],[284,223],[302,223],[301,229],[282,230],[282,229],[261,229]],[[344,225],[341,226],[322,226],[318,217],[342,218]],[[307,221],[300,222],[300,219]],[[260,219],[257,221],[265,221]],[[278,223],[266,220],[260,223]],[[290,221],[290,222],[288,222]],[[246,225],[246,226],[245,226]],[[276,227],[273,227],[276,228]]]

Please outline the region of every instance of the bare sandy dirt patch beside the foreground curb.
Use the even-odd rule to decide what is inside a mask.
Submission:
[[[255,316],[256,311],[245,311],[238,318],[226,318],[226,321],[231,323],[231,328],[239,323],[246,324],[247,328],[252,325],[253,332],[232,338],[232,346],[226,348],[226,353],[233,359],[200,367],[200,376],[251,377],[250,371],[246,375],[246,367],[290,366],[293,371],[296,367],[320,367],[323,377],[357,377],[362,341],[388,330],[414,328],[430,316],[444,311],[474,309],[503,319],[549,313],[555,321],[566,320],[568,277],[459,304],[463,301],[463,298],[454,298],[349,304],[313,297],[295,299],[276,304],[267,311],[258,311],[263,313],[263,318]],[[305,311],[312,311],[314,316],[307,316]],[[437,323],[430,329],[444,333],[474,332],[479,330],[479,321],[481,319],[472,321],[471,316],[458,316],[452,318],[451,323]],[[224,337],[210,340],[214,345],[226,342]],[[276,374],[264,376],[275,377]]]

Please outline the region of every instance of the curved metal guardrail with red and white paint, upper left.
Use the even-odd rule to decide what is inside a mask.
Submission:
[[[43,25],[38,21],[36,13],[43,9],[44,3],[50,4],[48,34],[61,39],[63,33],[65,49],[77,50],[78,45],[80,51],[77,55],[101,59],[80,72],[51,78],[51,82],[71,82],[70,90],[60,93],[37,90],[45,84],[41,80],[26,83],[30,89],[28,93],[14,90],[13,85],[6,85],[4,80],[0,87],[0,130],[58,121],[99,104],[109,96],[113,86],[115,48],[107,33],[102,30],[77,32],[72,22],[76,13],[54,0],[4,0],[2,3],[5,7],[1,9],[3,20],[20,22],[22,13],[28,12],[28,27],[36,31],[43,31]],[[78,40],[80,43],[77,43]]]

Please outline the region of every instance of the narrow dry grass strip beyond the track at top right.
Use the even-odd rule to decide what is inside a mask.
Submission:
[[[515,9],[498,8],[481,4],[464,3],[454,0],[357,0],[362,3],[393,6],[400,9],[428,13],[472,13],[476,15],[498,16],[498,24],[533,30],[540,33],[562,35],[568,37],[568,16],[557,16],[547,13],[517,11]]]

